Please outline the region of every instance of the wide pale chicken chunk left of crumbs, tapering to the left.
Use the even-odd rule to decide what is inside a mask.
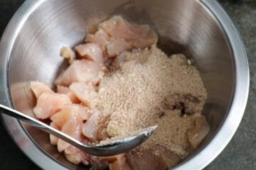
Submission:
[[[55,85],[69,86],[73,82],[92,82],[97,84],[103,77],[104,68],[90,60],[75,60],[68,69],[55,80]]]

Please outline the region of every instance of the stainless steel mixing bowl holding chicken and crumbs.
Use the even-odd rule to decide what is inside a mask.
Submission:
[[[81,42],[89,25],[120,14],[148,23],[166,53],[193,59],[208,92],[203,109],[210,133],[176,169],[202,169],[238,128],[247,103],[249,71],[238,31],[214,0],[28,0],[11,19],[0,44],[0,103],[32,114],[32,80],[52,82],[65,64],[60,47]],[[2,115],[11,137],[43,169],[83,169],[65,160],[48,135]]]

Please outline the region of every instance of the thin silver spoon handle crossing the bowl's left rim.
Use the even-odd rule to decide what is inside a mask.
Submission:
[[[36,118],[32,118],[31,116],[28,116],[24,113],[16,111],[12,108],[9,108],[0,104],[0,113],[4,113],[18,120],[23,120],[23,122],[26,122],[29,125],[32,125],[45,132],[48,132],[51,135],[54,135],[55,137],[59,137],[61,140],[64,140],[65,142],[68,142],[71,145],[74,145],[75,147],[78,147],[78,148],[82,147],[83,149],[84,147],[86,147],[85,144],[82,144],[82,142],[75,140],[73,137],[70,137],[63,132],[60,132],[59,130],[56,130],[55,128],[50,127],[49,125],[46,125],[46,123],[42,123],[41,121],[36,120]]]

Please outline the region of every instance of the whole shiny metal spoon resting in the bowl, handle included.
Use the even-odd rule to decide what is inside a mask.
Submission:
[[[78,147],[79,149],[86,152],[87,154],[92,154],[95,156],[102,156],[102,157],[112,156],[115,154],[121,154],[121,153],[127,152],[133,149],[134,147],[137,147],[138,145],[142,144],[142,142],[147,140],[152,135],[154,130],[156,130],[156,126],[151,126],[147,128],[145,131],[139,132],[139,134],[137,135],[127,137],[124,140],[117,140],[117,141],[111,142],[110,145],[90,146],[90,145],[85,145],[78,140],[75,140],[73,137],[70,137],[63,132],[60,132],[59,130],[52,128],[49,125],[46,125],[46,123],[42,123],[41,121],[36,120],[35,118],[32,118],[24,113],[21,113],[12,108],[3,106],[1,104],[0,104],[0,113],[10,115],[11,117],[14,117],[18,120],[23,120],[24,122],[40,130],[48,132],[51,135],[55,135],[56,137],[59,137],[61,140],[64,140],[65,142],[70,143],[70,145]]]

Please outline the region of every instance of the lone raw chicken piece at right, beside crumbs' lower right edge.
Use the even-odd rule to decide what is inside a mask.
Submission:
[[[196,118],[195,126],[188,130],[188,141],[193,149],[196,149],[210,131],[209,123],[204,116]]]

